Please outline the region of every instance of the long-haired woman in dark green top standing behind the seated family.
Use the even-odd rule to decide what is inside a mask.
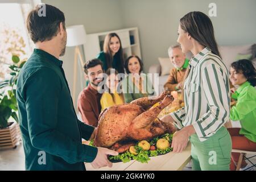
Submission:
[[[114,68],[118,73],[125,73],[123,69],[123,49],[119,36],[115,33],[106,35],[103,51],[97,56],[103,63],[104,71]]]

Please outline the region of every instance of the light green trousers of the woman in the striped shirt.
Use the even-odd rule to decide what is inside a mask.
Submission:
[[[221,127],[212,137],[200,142],[191,135],[192,170],[228,171],[231,162],[232,140],[228,130]]]

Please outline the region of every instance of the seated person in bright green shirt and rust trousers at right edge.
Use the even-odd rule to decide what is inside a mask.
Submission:
[[[256,151],[256,70],[249,60],[238,60],[230,68],[230,81],[238,88],[232,88],[232,98],[237,101],[230,110],[230,119],[240,121],[240,128],[230,128],[232,148]],[[236,169],[239,153],[232,153],[230,170]],[[245,160],[242,168],[246,169]],[[251,168],[252,169],[252,168]]]

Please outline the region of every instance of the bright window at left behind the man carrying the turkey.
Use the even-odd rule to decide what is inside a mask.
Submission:
[[[19,56],[20,60],[27,59],[34,48],[26,28],[27,14],[34,5],[25,1],[6,2],[12,3],[0,1],[0,81],[10,76],[12,55]]]

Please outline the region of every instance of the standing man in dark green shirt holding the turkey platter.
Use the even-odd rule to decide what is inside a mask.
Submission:
[[[85,170],[112,167],[107,155],[118,153],[81,143],[96,129],[77,119],[60,56],[65,53],[67,32],[63,12],[44,5],[28,14],[27,28],[35,49],[20,71],[17,84],[19,123],[27,170]]]

